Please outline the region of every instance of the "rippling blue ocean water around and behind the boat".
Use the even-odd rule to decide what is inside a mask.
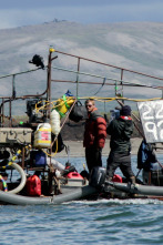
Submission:
[[[163,162],[163,155],[159,156]],[[65,163],[67,159],[58,159]],[[81,171],[84,159],[70,162]],[[106,159],[103,157],[103,165]],[[134,173],[136,157],[132,157]],[[118,173],[120,173],[118,171]],[[141,174],[140,174],[141,177]],[[163,202],[157,200],[73,201],[60,205],[0,206],[4,244],[163,244]]]

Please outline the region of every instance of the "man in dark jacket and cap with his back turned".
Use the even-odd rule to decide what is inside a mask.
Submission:
[[[133,121],[131,118],[131,108],[122,106],[120,118],[111,121],[106,129],[106,133],[111,135],[111,152],[108,159],[106,180],[111,181],[118,167],[121,169],[123,175],[131,183],[135,182],[134,174],[131,169],[131,135],[133,133]]]

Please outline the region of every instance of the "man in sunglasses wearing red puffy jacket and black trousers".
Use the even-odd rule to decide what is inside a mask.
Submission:
[[[88,120],[85,122],[83,146],[85,147],[85,159],[89,172],[94,166],[102,166],[102,149],[106,137],[106,122],[99,114],[94,100],[85,101]]]

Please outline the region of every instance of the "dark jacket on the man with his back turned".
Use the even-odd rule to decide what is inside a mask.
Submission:
[[[106,129],[111,135],[111,151],[125,153],[131,151],[131,135],[133,133],[133,121],[130,116],[120,116],[111,121]]]

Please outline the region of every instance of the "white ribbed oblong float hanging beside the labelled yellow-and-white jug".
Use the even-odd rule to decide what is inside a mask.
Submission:
[[[52,133],[54,135],[58,135],[60,133],[61,126],[60,126],[60,114],[55,110],[53,110],[50,114],[50,124]]]

